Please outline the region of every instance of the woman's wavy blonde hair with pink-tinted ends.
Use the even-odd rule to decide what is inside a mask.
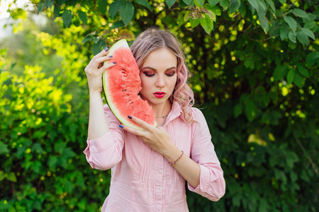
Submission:
[[[193,122],[191,107],[194,105],[194,93],[187,81],[190,72],[185,64],[185,55],[177,37],[166,30],[149,28],[142,32],[130,47],[140,69],[148,55],[160,48],[170,49],[177,57],[177,84],[169,100],[171,103],[176,101],[181,105],[186,124],[191,124]]]

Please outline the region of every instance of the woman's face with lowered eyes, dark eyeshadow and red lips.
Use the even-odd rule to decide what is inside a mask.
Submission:
[[[151,52],[140,70],[140,94],[150,105],[169,101],[177,82],[177,57],[167,48]]]

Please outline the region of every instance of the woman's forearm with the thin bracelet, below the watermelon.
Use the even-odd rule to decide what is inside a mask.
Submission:
[[[181,151],[178,148],[172,148],[167,155],[164,157],[168,160],[169,163],[177,160],[181,155]],[[177,161],[173,167],[179,172],[179,174],[184,177],[184,179],[191,184],[192,187],[198,187],[200,182],[201,167],[194,161],[189,158],[189,156],[183,154],[181,158]]]

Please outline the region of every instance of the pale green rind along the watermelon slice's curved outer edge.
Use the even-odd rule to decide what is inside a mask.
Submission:
[[[109,50],[108,50],[108,54],[109,55],[113,55],[113,52],[116,51],[116,49],[118,48],[127,48],[130,49],[130,47],[128,46],[128,42],[125,39],[119,40],[118,42],[116,42]],[[106,80],[108,78],[108,71],[104,71],[103,72],[103,94],[106,98],[106,102],[108,104],[108,106],[110,107],[110,109],[112,110],[113,114],[116,116],[116,118],[118,118],[118,120],[123,123],[125,126],[130,126],[134,129],[139,129],[139,130],[144,130],[142,129],[142,127],[136,126],[135,124],[132,124],[131,122],[128,121],[127,117],[122,117],[121,116],[121,112],[119,110],[117,110],[116,106],[113,104],[111,97],[108,95],[108,81]],[[154,124],[155,126],[157,126],[156,122]]]

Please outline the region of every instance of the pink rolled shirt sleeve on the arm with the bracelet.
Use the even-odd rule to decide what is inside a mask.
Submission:
[[[220,162],[211,142],[211,134],[203,113],[194,109],[196,122],[193,127],[191,158],[201,168],[200,182],[196,188],[188,184],[191,192],[196,192],[211,201],[218,201],[225,194],[225,179]]]

